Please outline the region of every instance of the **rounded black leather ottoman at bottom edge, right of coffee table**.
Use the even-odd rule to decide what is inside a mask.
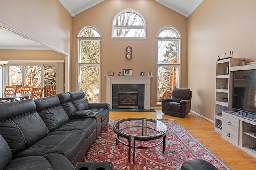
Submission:
[[[218,170],[211,163],[202,160],[202,159],[194,159],[184,162],[180,168],[180,170]]]

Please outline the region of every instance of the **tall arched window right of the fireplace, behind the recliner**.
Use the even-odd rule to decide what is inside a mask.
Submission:
[[[157,35],[157,102],[166,93],[178,88],[180,67],[180,35],[165,27]]]

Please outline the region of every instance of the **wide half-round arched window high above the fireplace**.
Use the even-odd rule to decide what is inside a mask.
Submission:
[[[112,21],[112,38],[146,38],[146,20],[134,9],[118,12]]]

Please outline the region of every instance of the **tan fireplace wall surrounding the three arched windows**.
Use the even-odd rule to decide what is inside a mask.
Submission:
[[[111,22],[113,17],[126,8],[138,10],[146,19],[147,39],[111,39]],[[187,19],[170,8],[154,0],[106,0],[73,18],[72,39],[72,73],[76,75],[77,40],[80,29],[87,25],[97,27],[101,34],[101,102],[106,102],[106,78],[108,71],[117,75],[123,69],[132,69],[133,75],[146,75],[152,71],[151,107],[156,106],[156,34],[162,27],[171,25],[181,33],[181,87],[186,87],[187,80]],[[132,59],[125,59],[125,48],[132,47]],[[72,76],[71,82],[77,82]],[[77,84],[72,83],[71,90],[76,90]]]

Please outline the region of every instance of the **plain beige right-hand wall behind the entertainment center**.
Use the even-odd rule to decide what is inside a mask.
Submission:
[[[188,18],[192,110],[208,119],[214,120],[218,55],[234,50],[233,58],[256,61],[255,7],[255,0],[204,0]]]

